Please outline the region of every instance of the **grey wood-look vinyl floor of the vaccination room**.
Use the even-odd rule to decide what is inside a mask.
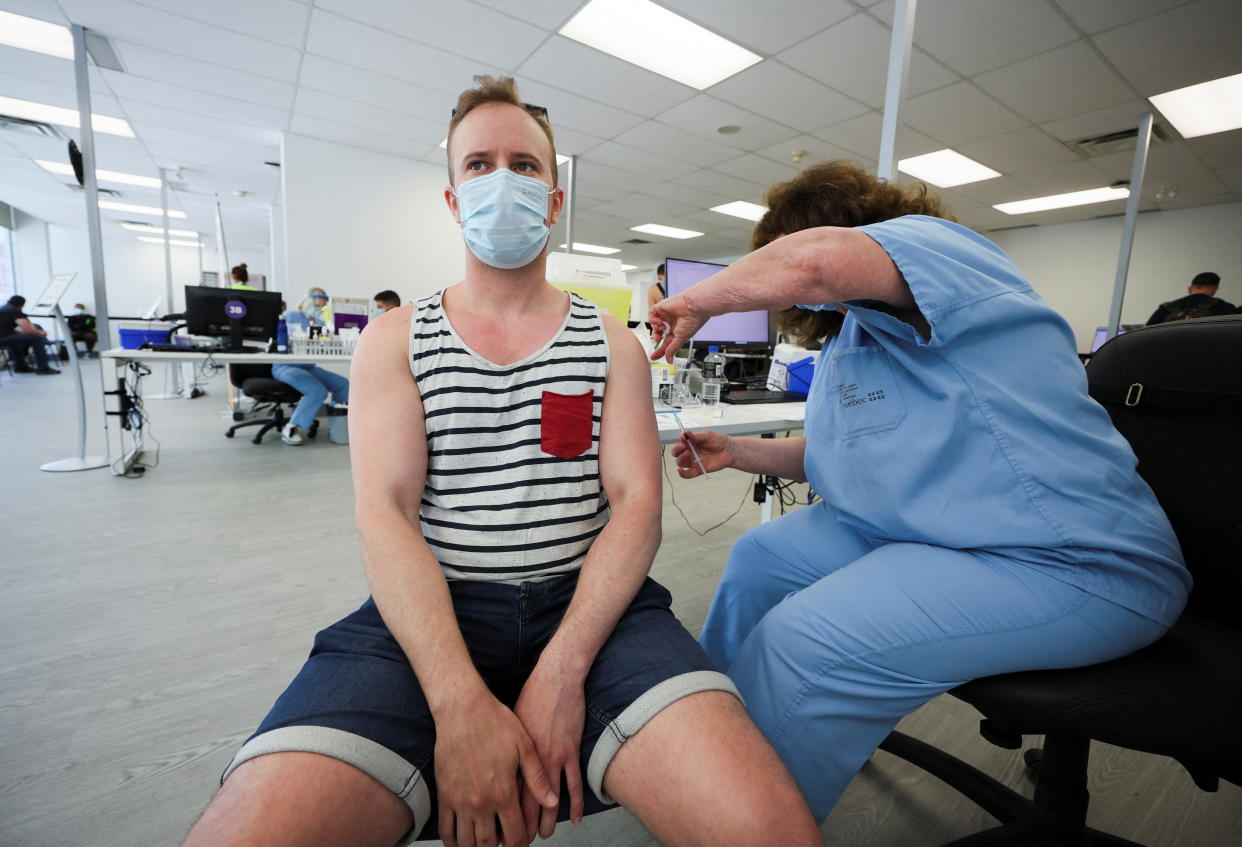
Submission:
[[[112,369],[108,368],[111,374]],[[87,366],[92,452],[98,365]],[[158,391],[160,374],[148,381]],[[41,473],[75,450],[72,384],[0,374],[0,845],[175,845],[241,740],[301,666],[312,635],[366,594],[348,448],[222,437],[224,381],[197,400],[150,400],[159,466]],[[116,435],[116,428],[113,428]],[[116,447],[113,447],[116,453]],[[729,546],[758,519],[727,518],[749,478],[666,486],[655,576],[692,631]],[[941,697],[902,729],[1028,792],[1020,755],[984,741]],[[1027,739],[1028,745],[1038,739]],[[1175,763],[1097,745],[1090,823],[1151,847],[1242,845],[1242,789],[1195,789]],[[922,771],[877,753],[822,827],[823,843],[943,845],[990,818]],[[623,810],[561,827],[556,845],[655,841]]]

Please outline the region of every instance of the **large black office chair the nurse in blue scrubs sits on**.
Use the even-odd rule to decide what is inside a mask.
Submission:
[[[1035,800],[902,733],[882,750],[939,777],[1000,827],[953,842],[1129,845],[1086,825],[1092,740],[1171,756],[1203,791],[1242,785],[1242,317],[1158,324],[1092,358],[1092,396],[1139,457],[1195,578],[1190,605],[1164,638],[1113,662],[976,679],[953,695],[982,713],[989,741],[1027,750]],[[1216,445],[1216,448],[1212,448]]]

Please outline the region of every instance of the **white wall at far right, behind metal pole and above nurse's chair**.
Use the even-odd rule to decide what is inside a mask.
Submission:
[[[1108,323],[1122,222],[1109,217],[987,237],[1069,320],[1086,351],[1095,328]],[[1242,202],[1139,215],[1122,323],[1145,323],[1160,303],[1185,296],[1202,271],[1221,274],[1220,296],[1242,306]]]

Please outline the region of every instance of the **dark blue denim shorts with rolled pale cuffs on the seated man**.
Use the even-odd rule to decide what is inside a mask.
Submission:
[[[450,581],[474,667],[505,705],[517,702],[576,586],[578,573],[520,584]],[[586,812],[614,802],[604,791],[605,770],[621,744],[661,709],[703,691],[738,694],[673,617],[669,601],[668,591],[647,579],[586,677],[580,748],[591,789]],[[368,599],[315,636],[302,671],[220,781],[267,753],[319,753],[354,765],[405,800],[414,812],[407,840],[435,837],[435,744],[436,727],[419,679]],[[563,791],[563,818],[568,810]]]

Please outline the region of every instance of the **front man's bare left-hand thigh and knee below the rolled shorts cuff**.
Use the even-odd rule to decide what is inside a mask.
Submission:
[[[391,847],[412,825],[405,801],[353,765],[317,753],[273,753],[237,768],[185,847]]]

